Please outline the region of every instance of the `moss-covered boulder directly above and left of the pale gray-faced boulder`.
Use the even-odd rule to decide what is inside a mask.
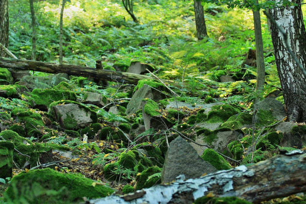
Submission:
[[[76,94],[66,90],[34,89],[29,102],[34,108],[47,110],[52,102],[61,100],[76,101]]]

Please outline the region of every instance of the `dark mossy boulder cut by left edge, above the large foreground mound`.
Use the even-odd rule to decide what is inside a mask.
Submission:
[[[14,143],[0,140],[0,178],[12,177]]]

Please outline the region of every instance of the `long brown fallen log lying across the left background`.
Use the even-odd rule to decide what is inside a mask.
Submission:
[[[128,72],[115,72],[106,69],[95,69],[77,65],[56,64],[32,60],[19,60],[0,57],[1,68],[13,68],[22,70],[32,70],[46,73],[66,73],[74,76],[85,76],[97,80],[115,81],[119,83],[137,84],[142,79],[153,79],[152,77],[132,74]]]

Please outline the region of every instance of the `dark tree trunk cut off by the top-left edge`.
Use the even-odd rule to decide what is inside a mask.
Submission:
[[[0,0],[0,43],[9,47],[9,1]],[[0,49],[0,57],[6,57],[4,50]]]

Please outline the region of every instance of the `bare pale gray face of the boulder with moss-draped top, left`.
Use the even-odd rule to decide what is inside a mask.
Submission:
[[[91,114],[95,114],[90,112],[78,104],[64,104],[53,106],[55,118],[60,123],[62,128],[73,130],[78,128],[84,128],[91,123],[95,122],[91,119]],[[71,124],[73,123],[73,124]]]

